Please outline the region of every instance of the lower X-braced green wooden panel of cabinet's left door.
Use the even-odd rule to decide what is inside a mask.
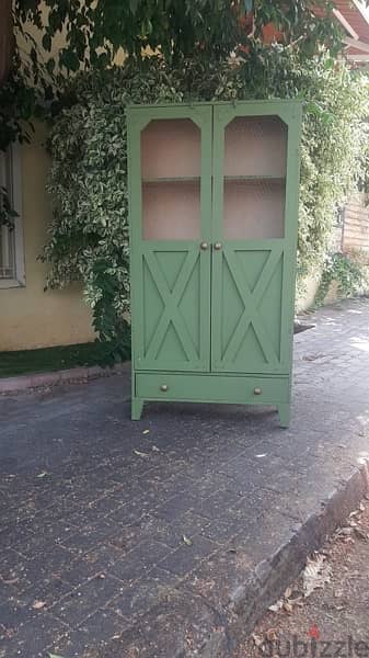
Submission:
[[[210,252],[197,242],[146,245],[142,343],[136,370],[209,370]]]

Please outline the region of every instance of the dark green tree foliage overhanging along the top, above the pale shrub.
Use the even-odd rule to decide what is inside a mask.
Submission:
[[[34,116],[59,111],[71,75],[109,67],[119,50],[136,67],[148,48],[172,66],[183,57],[214,63],[253,49],[269,22],[302,54],[318,43],[341,46],[326,0],[0,0],[0,150],[30,141]]]

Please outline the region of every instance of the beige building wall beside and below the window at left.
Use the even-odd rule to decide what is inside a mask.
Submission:
[[[45,191],[49,158],[45,129],[38,126],[21,147],[21,203],[25,285],[0,288],[0,351],[72,344],[93,340],[91,311],[80,286],[44,292],[46,265],[37,260],[50,218]]]

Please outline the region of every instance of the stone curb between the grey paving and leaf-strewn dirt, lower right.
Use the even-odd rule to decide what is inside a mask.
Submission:
[[[300,575],[307,556],[323,546],[336,527],[358,508],[368,491],[369,462],[365,462],[322,501],[320,511],[297,527],[288,543],[279,546],[270,558],[256,565],[247,582],[239,583],[223,611],[221,633],[219,625],[216,632],[209,629],[199,656],[231,658],[268,606],[280,599],[286,588]]]

